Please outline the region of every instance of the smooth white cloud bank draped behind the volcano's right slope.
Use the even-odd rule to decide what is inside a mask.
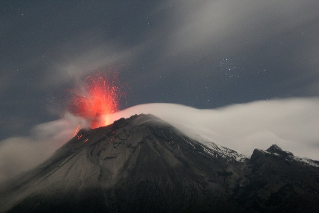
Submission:
[[[139,113],[151,113],[193,139],[211,139],[248,157],[255,148],[275,143],[294,155],[319,160],[318,98],[255,101],[214,110],[150,103],[113,116],[115,120]]]

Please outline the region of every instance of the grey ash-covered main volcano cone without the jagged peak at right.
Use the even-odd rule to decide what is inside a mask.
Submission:
[[[0,206],[11,212],[241,209],[225,180],[235,162],[141,114],[81,130],[15,181]]]

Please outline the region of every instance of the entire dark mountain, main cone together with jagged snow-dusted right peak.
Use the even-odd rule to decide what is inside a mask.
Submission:
[[[247,158],[141,114],[80,130],[1,190],[1,212],[317,212],[319,162],[277,145]]]

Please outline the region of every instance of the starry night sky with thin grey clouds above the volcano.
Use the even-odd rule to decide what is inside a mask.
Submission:
[[[319,95],[319,2],[1,1],[0,139],[62,116],[63,91],[121,66],[128,106],[213,109]]]

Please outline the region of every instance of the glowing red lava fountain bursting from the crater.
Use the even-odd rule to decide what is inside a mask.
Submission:
[[[98,71],[87,76],[78,88],[68,90],[71,98],[67,110],[88,121],[91,128],[109,125],[108,115],[119,111],[121,103],[126,104],[123,90],[128,85],[120,84],[119,68],[109,65],[108,72]]]

